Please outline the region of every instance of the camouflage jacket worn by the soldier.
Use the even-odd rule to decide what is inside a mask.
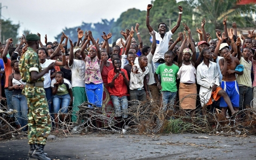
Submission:
[[[20,75],[23,82],[26,83],[35,83],[35,82],[43,82],[44,78],[41,77],[37,79],[37,81],[31,80],[31,71],[37,71],[40,73],[42,71],[42,67],[40,65],[37,53],[31,48],[28,47],[27,52],[25,52],[19,61]],[[45,95],[44,87],[34,87],[34,86],[25,86],[22,90],[22,94],[27,96],[34,95]]]

